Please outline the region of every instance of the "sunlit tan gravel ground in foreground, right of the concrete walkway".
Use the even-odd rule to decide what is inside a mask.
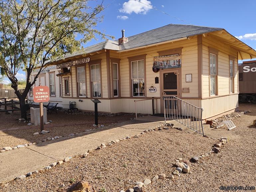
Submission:
[[[218,154],[191,163],[191,174],[159,179],[146,186],[144,191],[220,191],[221,185],[256,186],[256,129],[252,128],[256,105],[241,105],[240,109],[250,109],[252,113],[234,120],[237,127],[232,132],[236,137],[231,137]],[[63,165],[25,180],[2,184],[0,190],[57,191],[63,184],[70,185],[69,181],[87,180],[97,191],[119,192],[134,186],[136,181],[171,173],[177,158],[188,160],[194,155],[204,154],[214,143],[213,139],[173,129],[150,132],[93,151],[86,158],[74,157]]]

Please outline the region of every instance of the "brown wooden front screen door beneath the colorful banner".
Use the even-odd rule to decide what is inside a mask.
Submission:
[[[164,113],[163,96],[176,96],[180,97],[179,89],[179,69],[161,70],[161,109]]]

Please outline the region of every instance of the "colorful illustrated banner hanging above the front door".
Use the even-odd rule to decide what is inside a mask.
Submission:
[[[158,56],[153,59],[153,67],[159,69],[180,68],[181,55]]]

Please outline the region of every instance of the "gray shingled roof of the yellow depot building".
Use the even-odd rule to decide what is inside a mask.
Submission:
[[[194,25],[178,25],[178,24],[169,24],[157,29],[146,31],[134,36],[128,37],[128,42],[123,45],[118,45],[118,40],[112,41],[107,40],[101,43],[84,48],[81,51],[73,52],[72,54],[66,54],[64,58],[82,55],[84,53],[92,53],[102,49],[111,49],[111,50],[125,50],[130,48],[137,48],[146,45],[151,45],[155,43],[180,39],[184,37],[190,37],[194,35],[199,35],[203,33],[209,33],[213,31],[220,31],[222,28],[215,27],[203,27],[203,26],[194,26]]]

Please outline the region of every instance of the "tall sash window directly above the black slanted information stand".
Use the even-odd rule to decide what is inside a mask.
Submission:
[[[101,97],[100,64],[91,65],[92,96]]]

